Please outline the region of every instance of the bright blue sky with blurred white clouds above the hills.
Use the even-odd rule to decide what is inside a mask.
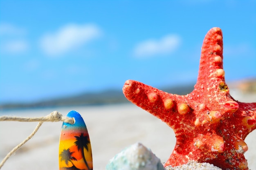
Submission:
[[[255,0],[0,0],[0,103],[194,83],[215,26],[226,80],[256,77]]]

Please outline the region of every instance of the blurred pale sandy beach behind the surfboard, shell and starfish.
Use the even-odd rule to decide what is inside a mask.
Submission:
[[[255,95],[250,98],[243,96],[240,101],[255,102],[255,98]],[[76,110],[82,115],[92,144],[94,170],[104,170],[109,159],[136,142],[150,148],[162,162],[168,159],[175,146],[173,130],[133,104],[9,110],[1,111],[0,115],[40,117],[54,110],[63,115]],[[1,121],[0,160],[24,140],[36,125],[37,122]],[[57,170],[61,125],[62,122],[43,123],[36,135],[7,160],[2,170]],[[249,148],[245,157],[251,170],[256,170],[255,139],[256,132],[245,139]]]

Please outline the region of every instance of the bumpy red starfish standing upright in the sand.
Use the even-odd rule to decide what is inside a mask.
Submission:
[[[169,94],[134,80],[124,84],[130,102],[174,130],[177,141],[165,166],[195,160],[222,169],[248,170],[244,140],[256,129],[256,103],[238,102],[230,96],[222,47],[221,29],[212,28],[204,38],[198,80],[190,94]]]

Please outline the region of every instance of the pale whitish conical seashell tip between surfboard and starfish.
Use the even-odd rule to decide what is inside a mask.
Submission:
[[[136,143],[110,159],[106,170],[165,170],[165,168],[150,149],[141,143]]]

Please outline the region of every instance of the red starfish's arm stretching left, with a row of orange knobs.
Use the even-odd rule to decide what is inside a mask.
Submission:
[[[168,122],[167,114],[175,105],[176,95],[168,94],[141,82],[127,80],[123,87],[125,97],[133,104]]]

